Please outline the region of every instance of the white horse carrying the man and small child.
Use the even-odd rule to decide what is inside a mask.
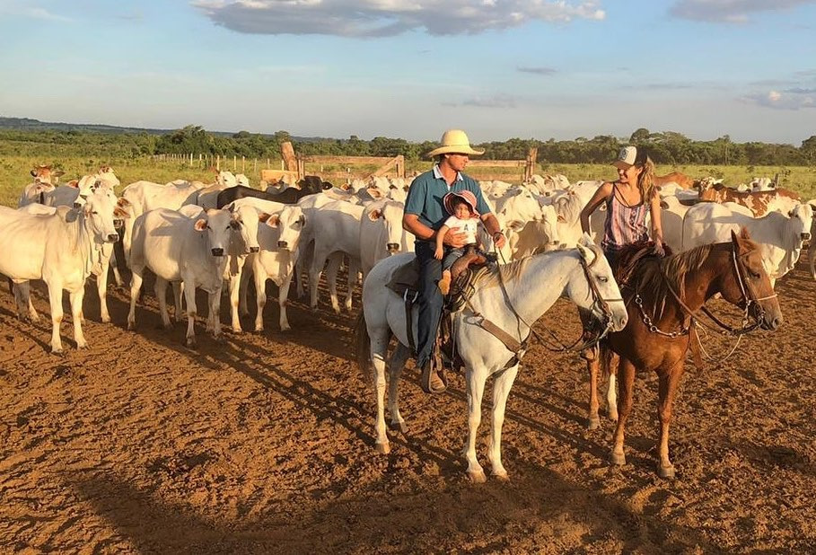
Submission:
[[[358,363],[365,370],[370,356],[373,364],[374,394],[377,399],[375,447],[383,454],[390,452],[383,395],[386,385],[386,353],[391,334],[399,340],[399,345],[388,365],[388,405],[391,426],[399,426],[403,431],[405,420],[399,414],[398,383],[399,374],[410,356],[405,303],[386,284],[394,271],[413,256],[413,253],[391,256],[374,266],[363,285],[363,314],[356,330]],[[592,280],[592,284],[588,279]],[[609,262],[587,235],[584,235],[575,249],[545,252],[512,262],[481,278],[479,282],[469,306],[453,317],[455,341],[465,365],[468,388],[469,436],[463,454],[468,462],[469,478],[477,482],[486,480],[485,472],[476,458],[476,433],[481,421],[481,402],[487,377],[496,374],[493,388],[493,433],[487,449],[487,460],[492,465],[493,474],[506,480],[507,471],[502,465],[501,456],[502,424],[505,420],[507,396],[519,370],[518,360],[514,360],[515,353],[505,347],[502,340],[480,327],[481,315],[520,342],[529,336],[530,325],[561,296],[568,297],[579,309],[592,313],[593,318],[605,320],[602,323],[608,330],[622,330],[627,323],[627,309],[621,299],[618,284],[612,277]],[[413,322],[413,337],[416,338],[416,314]],[[511,363],[513,360],[514,365]]]

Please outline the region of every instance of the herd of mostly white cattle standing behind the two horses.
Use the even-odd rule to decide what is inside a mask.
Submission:
[[[145,269],[155,275],[155,293],[162,322],[171,325],[166,288],[173,290],[175,317],[182,320],[181,295],[187,304],[187,342],[195,345],[196,288],[208,293],[206,328],[221,333],[221,293],[228,283],[231,325],[241,331],[241,315],[249,313],[247,287],[254,279],[255,330],[263,330],[266,281],[279,288],[280,328],[289,329],[286,298],[293,277],[304,295],[301,277],[308,274],[311,306],[318,303],[324,266],[332,308],[340,312],[338,269],[347,260],[345,305],[352,290],[378,260],[413,250],[413,237],[401,225],[410,184],[402,179],[373,177],[335,187],[308,176],[297,183],[280,182],[253,189],[241,174],[215,172],[213,183],[136,181],[120,193],[108,166],[94,175],[57,185],[58,173],[48,166],[31,171],[17,209],[0,207],[0,274],[13,286],[21,317],[38,320],[29,282],[48,286],[52,320],[52,352],[61,352],[62,291],[70,294],[77,347],[82,333],[85,279],[93,273],[99,292],[101,320],[110,322],[105,298],[109,269],[118,285],[118,268],[131,270],[127,327],[136,326],[136,301]],[[816,199],[803,202],[794,192],[777,189],[768,179],[749,186],[725,187],[711,178],[691,180],[675,172],[655,180],[662,197],[665,241],[675,252],[707,242],[728,241],[732,230],[746,227],[762,244],[768,275],[776,280],[794,268],[814,229]],[[530,182],[480,183],[507,242],[500,256],[518,260],[538,251],[575,246],[582,236],[580,214],[601,181],[570,183],[563,175],[534,175]],[[592,216],[592,232],[602,233],[602,209]],[[114,243],[122,241],[125,260],[116,260]],[[485,248],[494,245],[482,233]],[[808,251],[816,278],[816,241]]]

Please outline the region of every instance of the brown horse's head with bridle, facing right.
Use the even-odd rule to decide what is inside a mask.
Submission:
[[[720,293],[729,303],[741,308],[749,305],[750,316],[765,330],[776,330],[782,323],[782,309],[762,263],[759,245],[750,240],[744,227],[739,235],[731,232],[734,256],[730,271],[724,273]]]

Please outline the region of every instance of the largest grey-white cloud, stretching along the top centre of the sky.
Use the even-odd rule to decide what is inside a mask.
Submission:
[[[527,22],[603,20],[595,0],[195,0],[215,24],[244,33],[388,37],[411,30],[477,34]]]

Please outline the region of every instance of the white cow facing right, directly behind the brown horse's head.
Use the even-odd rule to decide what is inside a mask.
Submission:
[[[789,216],[769,212],[754,218],[738,213],[730,207],[714,202],[703,202],[689,208],[683,233],[686,250],[709,242],[725,242],[731,232],[748,229],[751,239],[759,242],[762,260],[773,284],[794,269],[802,243],[810,237],[813,209],[809,205],[794,207]]]

